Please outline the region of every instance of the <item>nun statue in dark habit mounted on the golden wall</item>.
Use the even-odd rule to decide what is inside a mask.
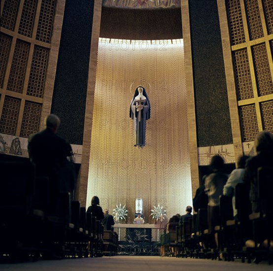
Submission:
[[[150,101],[145,89],[136,88],[135,95],[130,104],[130,118],[134,120],[135,143],[140,148],[145,146],[146,120],[150,118]]]

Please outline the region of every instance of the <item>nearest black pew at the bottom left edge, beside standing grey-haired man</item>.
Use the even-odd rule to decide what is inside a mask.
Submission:
[[[1,162],[0,253],[13,261],[39,255],[43,212],[34,209],[35,167],[28,160]]]

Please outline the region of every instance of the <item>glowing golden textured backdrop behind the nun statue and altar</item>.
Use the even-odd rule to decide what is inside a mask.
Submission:
[[[151,104],[143,149],[134,147],[129,116],[138,85]],[[149,223],[154,205],[164,205],[167,219],[192,205],[183,40],[100,39],[87,206],[94,195],[110,213],[126,205],[127,223],[136,198]]]

